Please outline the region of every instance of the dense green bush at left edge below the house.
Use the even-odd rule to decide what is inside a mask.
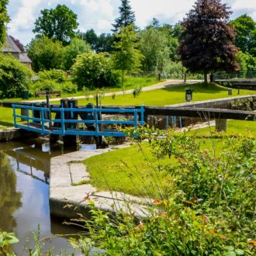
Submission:
[[[28,90],[33,71],[11,55],[0,54],[0,96],[16,98]]]

